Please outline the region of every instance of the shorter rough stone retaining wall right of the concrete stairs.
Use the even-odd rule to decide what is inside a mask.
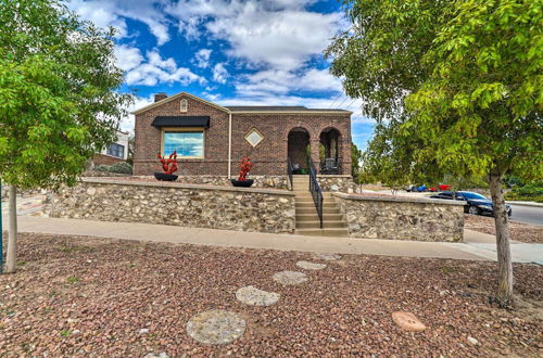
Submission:
[[[458,242],[464,235],[464,202],[334,193],[349,227],[361,239]]]

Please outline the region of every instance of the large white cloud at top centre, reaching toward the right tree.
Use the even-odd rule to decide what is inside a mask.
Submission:
[[[293,71],[320,55],[344,25],[341,13],[304,10],[313,0],[181,0],[165,7],[179,31],[194,38],[202,30],[229,42],[228,54],[253,66]]]

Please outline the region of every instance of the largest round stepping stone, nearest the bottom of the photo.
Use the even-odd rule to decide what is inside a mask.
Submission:
[[[187,322],[187,333],[204,344],[227,344],[245,332],[245,320],[227,310],[201,312]]]

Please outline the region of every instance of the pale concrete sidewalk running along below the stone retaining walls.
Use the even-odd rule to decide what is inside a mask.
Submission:
[[[185,228],[165,225],[106,222],[20,216],[18,231],[315,253],[368,254],[470,260],[496,259],[495,243],[491,243],[494,240],[493,236],[480,234],[469,230],[466,230],[466,243],[438,243],[377,239],[301,236]],[[492,245],[494,246],[494,251],[492,251]],[[543,259],[543,245],[540,244],[513,244],[512,250],[514,252],[513,257],[515,261],[531,263],[538,260],[541,261]]]

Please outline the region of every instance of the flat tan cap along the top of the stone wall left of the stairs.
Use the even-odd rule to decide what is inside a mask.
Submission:
[[[154,187],[154,188],[179,188],[179,189],[194,189],[194,190],[220,190],[220,191],[233,191],[241,193],[263,193],[272,195],[285,195],[294,196],[294,192],[280,189],[264,189],[264,188],[237,188],[237,187],[219,187],[219,186],[205,186],[205,184],[190,184],[190,183],[177,183],[167,181],[130,181],[130,180],[114,180],[114,179],[103,179],[103,178],[80,178],[81,182],[99,183],[99,184],[116,184],[116,186],[132,186],[132,187]]]

